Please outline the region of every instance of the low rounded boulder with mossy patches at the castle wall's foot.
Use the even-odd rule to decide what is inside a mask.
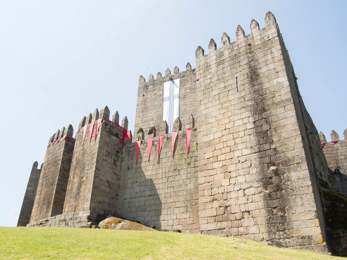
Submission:
[[[146,227],[136,222],[120,219],[120,218],[107,218],[99,223],[100,228],[105,229],[122,229],[122,230],[140,230],[140,231],[156,231],[153,228]]]

